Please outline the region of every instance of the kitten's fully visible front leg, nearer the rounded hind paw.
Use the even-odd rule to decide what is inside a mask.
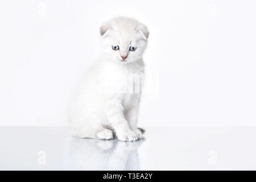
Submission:
[[[135,141],[138,139],[137,134],[130,129],[123,110],[121,100],[118,97],[112,97],[106,107],[108,121],[111,123],[119,140]]]

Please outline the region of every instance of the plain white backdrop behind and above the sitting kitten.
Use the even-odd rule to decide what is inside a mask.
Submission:
[[[1,1],[0,125],[66,126],[117,15],[148,26],[140,125],[256,124],[255,1]]]

